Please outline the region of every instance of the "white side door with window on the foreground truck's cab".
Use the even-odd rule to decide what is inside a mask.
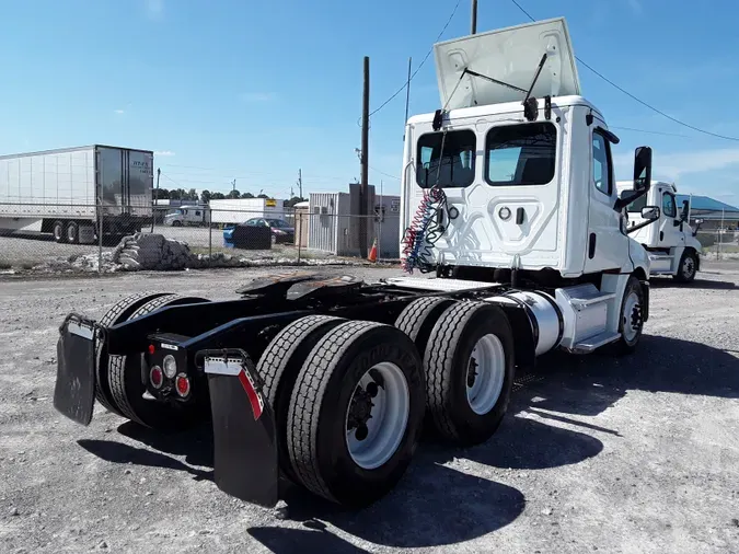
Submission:
[[[611,143],[598,129],[598,123],[596,119],[591,126],[591,171],[588,186],[590,206],[585,273],[620,269],[628,251],[628,239],[621,230],[621,213],[613,209],[617,192],[613,178]]]

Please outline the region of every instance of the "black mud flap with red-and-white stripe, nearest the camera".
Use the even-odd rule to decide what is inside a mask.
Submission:
[[[239,349],[205,350],[210,390],[216,485],[261,506],[278,500],[275,416],[262,394],[262,380],[249,355]]]

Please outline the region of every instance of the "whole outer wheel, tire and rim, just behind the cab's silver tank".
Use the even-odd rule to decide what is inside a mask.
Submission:
[[[487,440],[513,386],[513,332],[505,312],[484,302],[448,308],[429,336],[424,369],[427,408],[441,437],[461,446]]]

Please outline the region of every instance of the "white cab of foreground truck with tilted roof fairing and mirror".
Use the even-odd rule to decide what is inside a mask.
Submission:
[[[405,132],[406,268],[646,278],[647,254],[623,224],[619,138],[580,94],[564,19],[437,44],[435,55],[443,108]],[[637,150],[635,194],[648,191],[649,164]]]

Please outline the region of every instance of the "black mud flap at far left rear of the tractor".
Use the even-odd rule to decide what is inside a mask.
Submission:
[[[54,407],[90,425],[95,403],[95,339],[103,330],[94,321],[69,314],[59,327]]]

